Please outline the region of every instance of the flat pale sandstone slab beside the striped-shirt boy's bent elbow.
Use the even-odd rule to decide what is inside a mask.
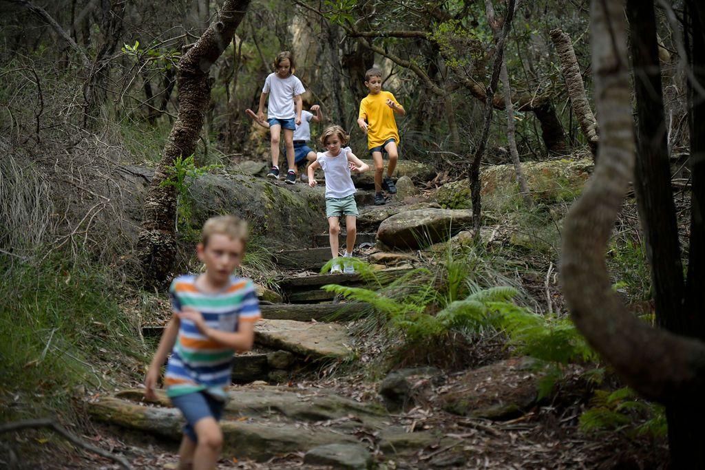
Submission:
[[[255,324],[255,342],[312,359],[345,359],[353,354],[349,346],[353,338],[338,323],[264,319]]]

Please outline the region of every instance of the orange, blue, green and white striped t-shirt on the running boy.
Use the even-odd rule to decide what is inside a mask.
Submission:
[[[196,276],[174,279],[169,287],[174,311],[191,307],[200,311],[207,326],[235,332],[241,321],[260,318],[259,301],[252,281],[231,276],[228,286],[216,294],[205,293],[196,286]],[[214,397],[225,398],[231,384],[233,350],[202,335],[190,320],[180,321],[178,336],[166,365],[166,395],[177,397],[207,390]]]

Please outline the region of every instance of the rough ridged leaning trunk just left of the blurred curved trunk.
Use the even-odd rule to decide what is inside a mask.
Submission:
[[[570,97],[570,104],[575,112],[575,117],[580,124],[582,133],[587,138],[587,144],[592,155],[596,156],[598,143],[597,121],[587,101],[580,66],[577,65],[577,57],[575,57],[572,42],[570,42],[570,37],[559,28],[551,30],[551,40],[553,45],[556,46],[558,60],[560,61],[560,72],[563,73],[563,80],[565,80],[565,87],[568,89],[568,96]]]

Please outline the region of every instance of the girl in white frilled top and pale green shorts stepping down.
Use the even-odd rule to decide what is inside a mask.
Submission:
[[[315,187],[318,183],[314,178],[317,168],[323,168],[326,173],[326,217],[328,217],[328,229],[331,240],[331,256],[338,257],[338,233],[341,226],[338,223],[342,216],[345,216],[345,228],[347,237],[345,238],[345,256],[343,258],[343,269],[345,273],[354,273],[355,268],[348,259],[353,257],[353,247],[355,246],[355,236],[357,235],[357,204],[355,204],[355,185],[350,178],[350,171],[364,173],[369,170],[367,163],[358,159],[350,147],[343,145],[348,143],[348,135],[339,125],[331,125],[323,131],[321,144],[328,151],[318,152],[316,161],[308,168],[309,186]],[[341,265],[334,263],[331,273],[340,273]]]

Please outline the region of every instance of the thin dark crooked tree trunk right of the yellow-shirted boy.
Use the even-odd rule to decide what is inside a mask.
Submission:
[[[502,61],[504,58],[504,43],[509,35],[509,30],[512,25],[512,18],[514,17],[514,6],[515,0],[509,0],[507,6],[507,16],[504,18],[504,25],[502,27],[502,32],[497,35],[496,38],[496,53],[494,57],[494,66],[492,68],[492,78],[487,87],[485,111],[484,111],[484,125],[482,126],[482,135],[480,135],[479,142],[477,144],[477,149],[472,157],[472,163],[470,164],[470,197],[472,198],[472,228],[474,229],[475,240],[479,240],[480,236],[480,217],[482,215],[480,206],[480,161],[482,161],[482,156],[484,156],[485,145],[487,142],[487,137],[489,136],[489,126],[492,122],[492,110],[494,106],[492,104],[494,98],[494,92],[497,89],[497,84],[499,82],[500,70],[502,68]]]

